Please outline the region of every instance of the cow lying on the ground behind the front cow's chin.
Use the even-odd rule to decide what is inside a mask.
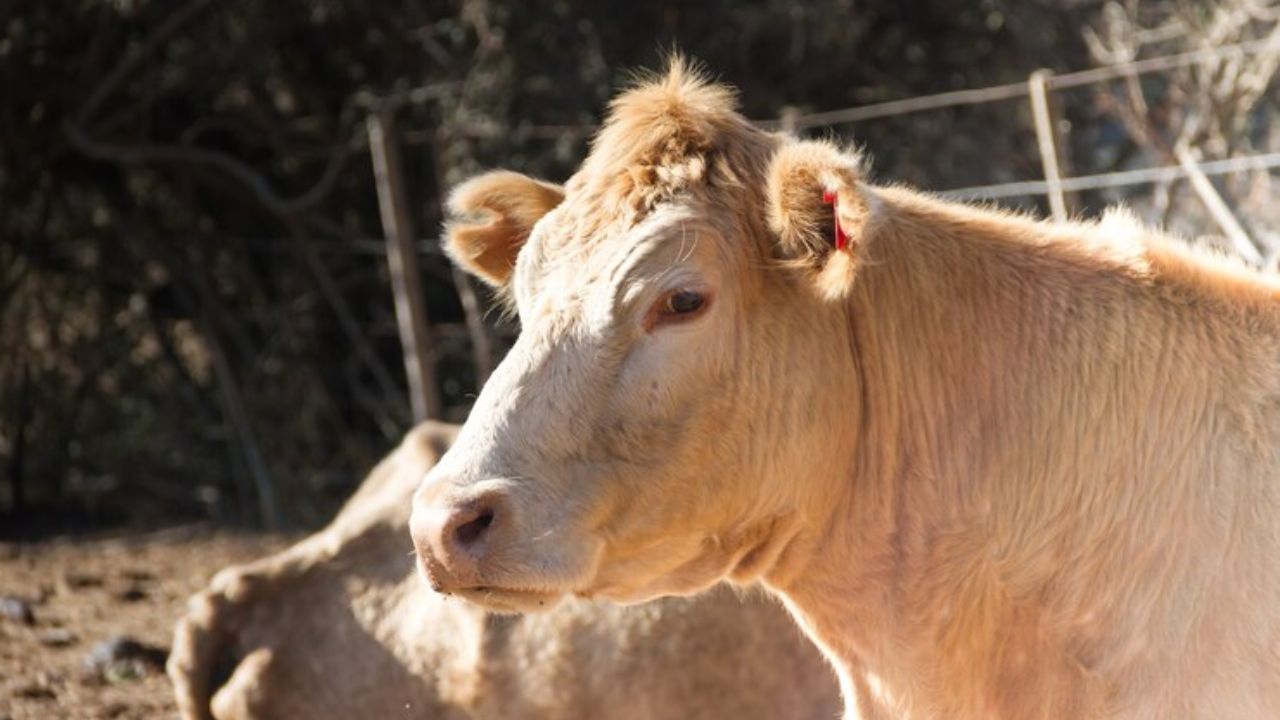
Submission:
[[[835,716],[831,669],[768,598],[513,618],[433,593],[410,498],[454,432],[421,425],[333,524],[192,598],[169,662],[184,719]]]

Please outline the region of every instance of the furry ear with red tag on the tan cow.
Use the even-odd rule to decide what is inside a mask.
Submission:
[[[872,201],[856,154],[828,142],[787,141],[769,165],[768,222],[777,254],[810,275],[827,300],[849,295]]]

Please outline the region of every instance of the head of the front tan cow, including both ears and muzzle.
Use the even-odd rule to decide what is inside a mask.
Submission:
[[[431,584],[531,610],[776,571],[823,502],[808,480],[849,468],[831,424],[856,392],[841,300],[874,202],[858,173],[677,60],[613,102],[563,188],[458,187],[449,252],[522,331],[415,498]]]

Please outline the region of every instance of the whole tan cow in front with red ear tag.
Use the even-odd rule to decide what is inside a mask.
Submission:
[[[676,61],[563,191],[460,187],[524,329],[415,500],[430,582],[762,579],[850,715],[1280,717],[1276,282],[860,165]]]

